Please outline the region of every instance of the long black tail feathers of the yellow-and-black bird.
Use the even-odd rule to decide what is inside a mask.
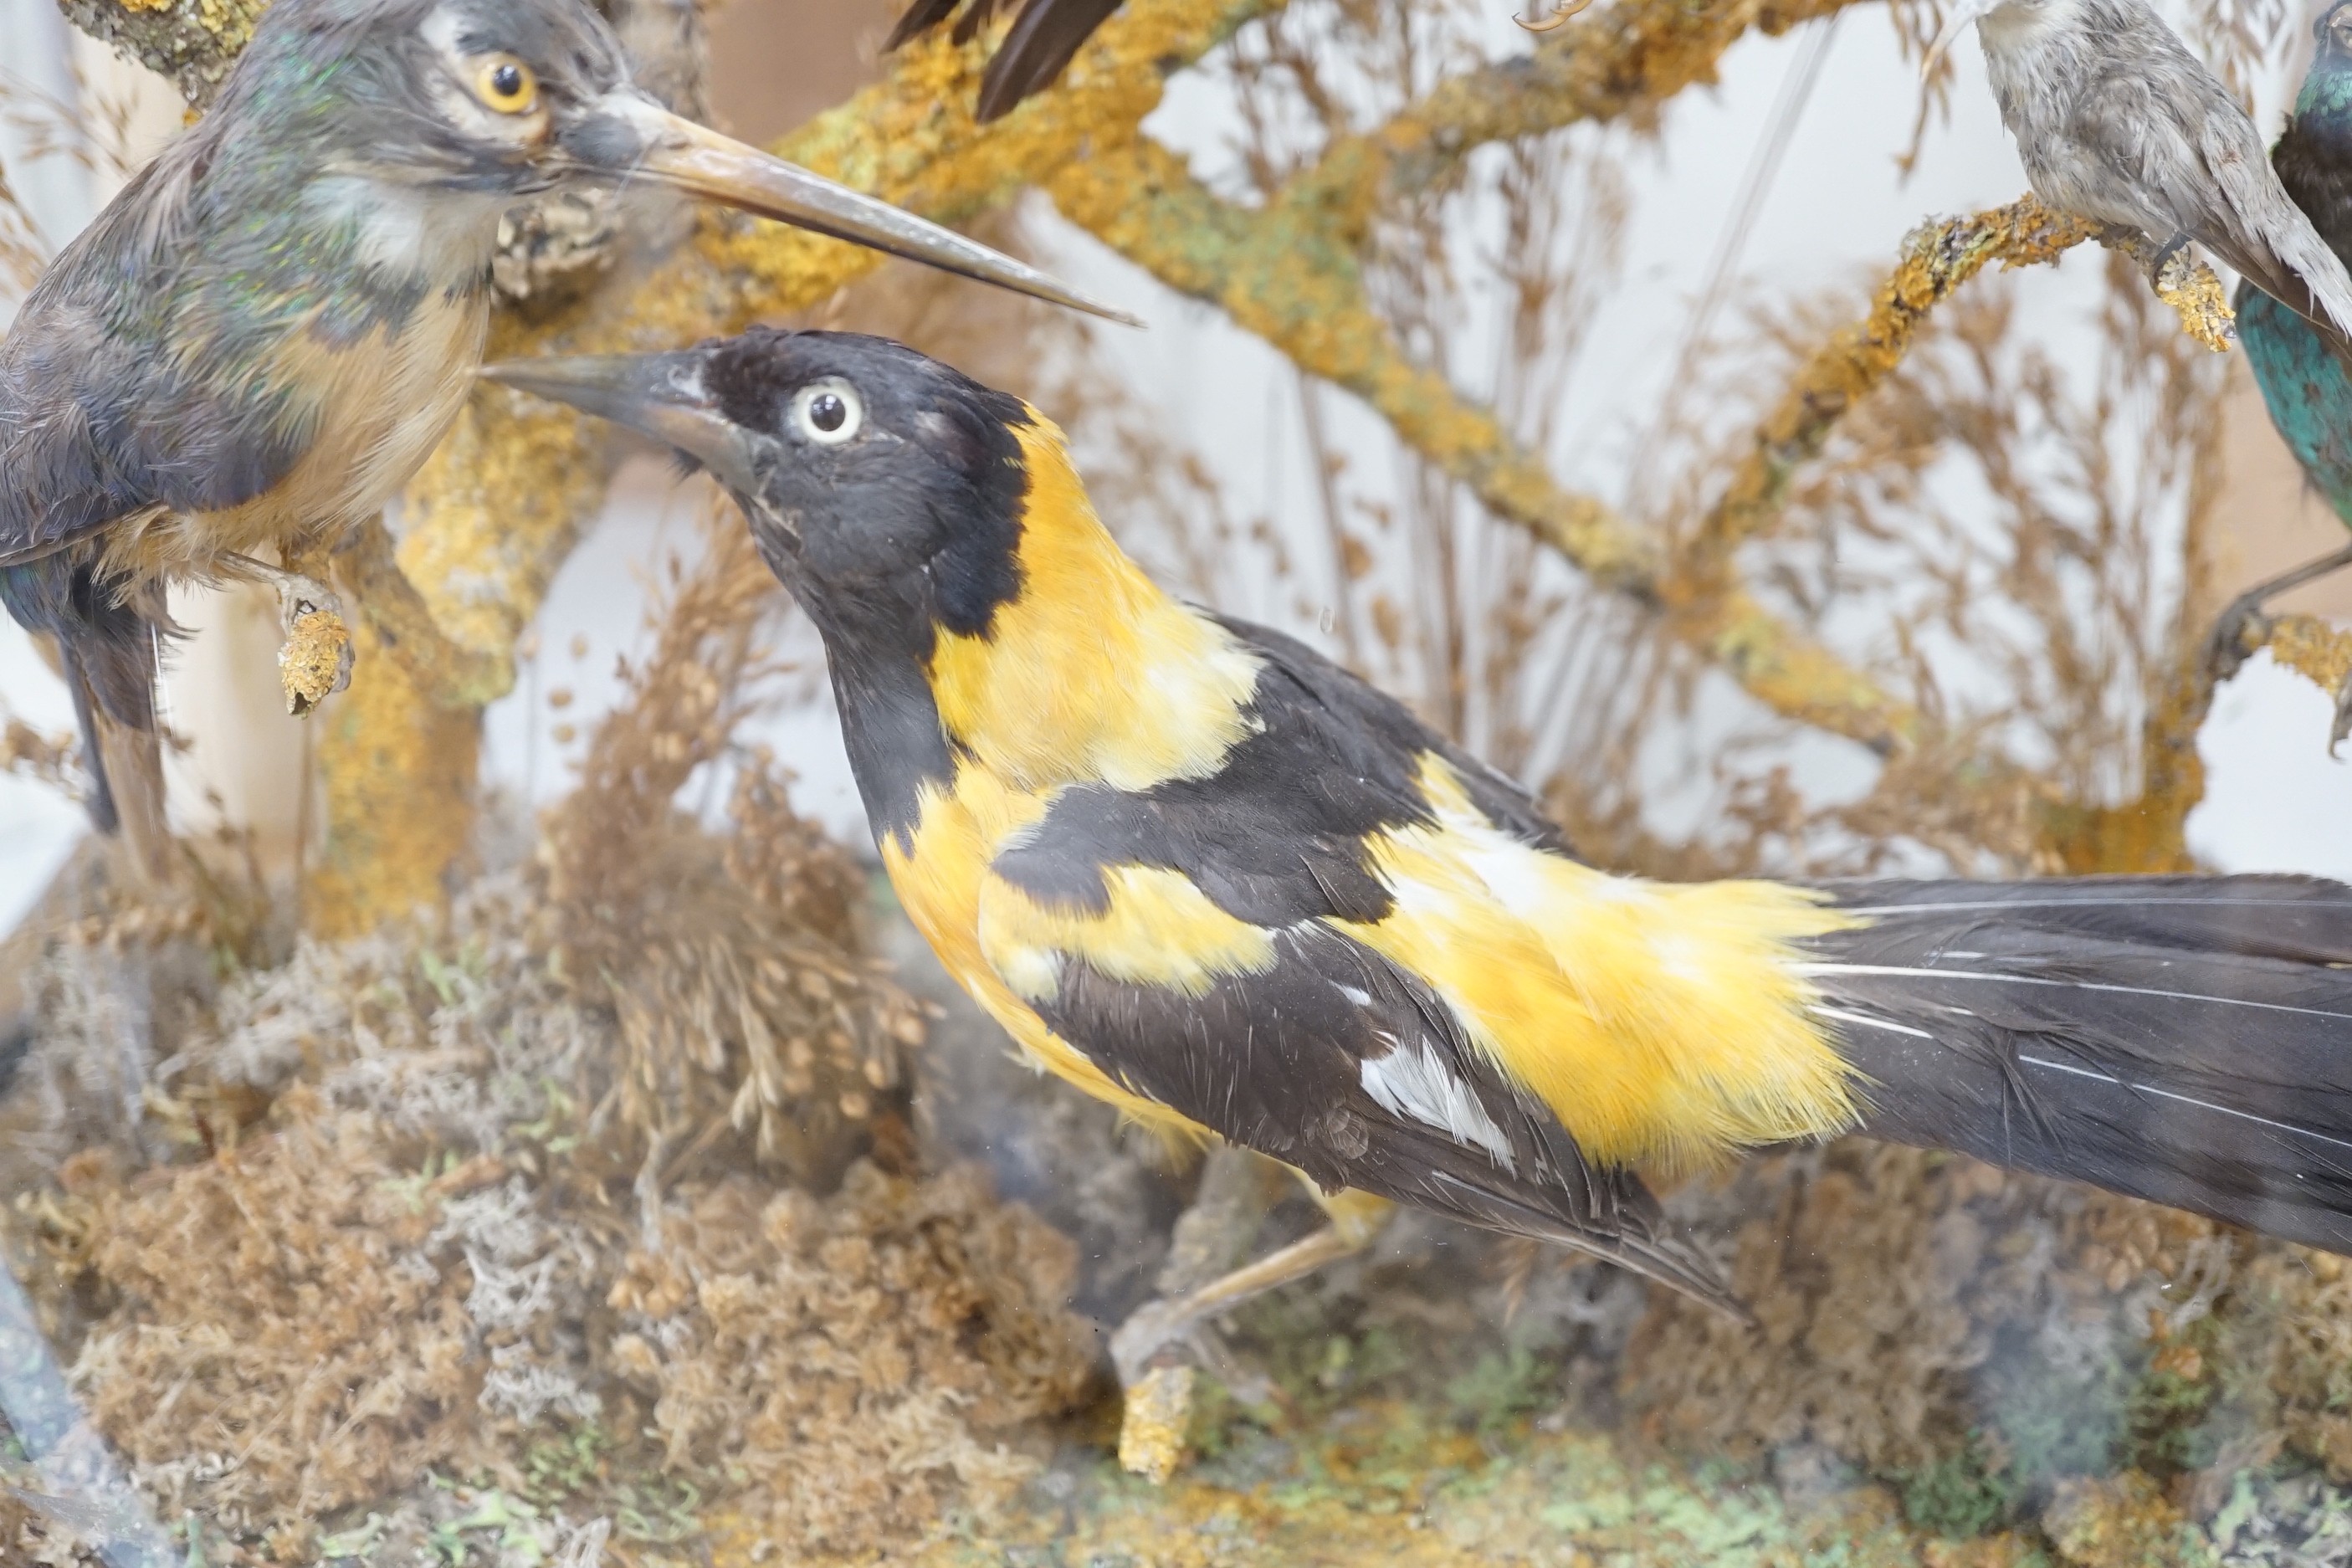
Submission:
[[[1851,882],[1816,1011],[1875,1138],[2352,1253],[2352,889]]]

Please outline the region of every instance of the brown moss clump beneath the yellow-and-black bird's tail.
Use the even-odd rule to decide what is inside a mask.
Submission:
[[[2136,1342],[2126,1298],[2227,1276],[2211,1220],[1955,1154],[1849,1140],[1757,1161],[1729,1197],[1757,1331],[1661,1293],[1625,1396],[1651,1439],[1750,1462],[1790,1443],[1879,1476],[1947,1462],[1999,1429],[1997,1356],[2046,1331]]]

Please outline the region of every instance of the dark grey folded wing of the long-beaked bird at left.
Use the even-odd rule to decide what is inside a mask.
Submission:
[[[0,343],[0,564],[40,559],[141,512],[249,501],[301,456],[299,421],[254,418],[261,376],[219,376],[174,301],[193,247],[205,127],[165,148],[26,296]],[[245,322],[252,327],[254,322]],[[240,322],[207,322],[214,339]],[[214,364],[221,355],[214,355]],[[226,388],[226,390],[223,390]]]

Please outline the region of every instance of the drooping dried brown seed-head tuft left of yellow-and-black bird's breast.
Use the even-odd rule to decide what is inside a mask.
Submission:
[[[654,649],[543,823],[555,969],[621,1023],[616,1105],[652,1157],[731,1121],[762,1159],[828,1185],[906,1095],[922,1013],[858,954],[849,856],[793,813],[776,764],[736,759],[722,842],[670,804],[722,759],[771,675],[776,578],[731,508],[675,571]]]

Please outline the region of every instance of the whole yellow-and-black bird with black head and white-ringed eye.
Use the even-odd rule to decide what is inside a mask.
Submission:
[[[2352,889],[1611,877],[1381,691],[1155,588],[1042,414],[908,348],[489,374],[734,494],[901,903],[1037,1065],[1327,1194],[1122,1331],[1129,1387],[1383,1201],[1736,1309],[1642,1168],[1844,1131],[2352,1251]]]

